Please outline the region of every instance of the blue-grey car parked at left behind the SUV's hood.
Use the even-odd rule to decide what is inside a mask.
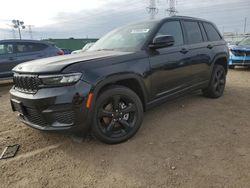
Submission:
[[[19,63],[63,55],[53,43],[36,40],[0,41],[0,79],[12,77],[12,69]]]

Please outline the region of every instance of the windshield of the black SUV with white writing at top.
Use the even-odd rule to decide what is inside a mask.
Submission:
[[[146,22],[115,29],[98,40],[88,51],[133,51],[141,48],[155,25],[155,22]]]

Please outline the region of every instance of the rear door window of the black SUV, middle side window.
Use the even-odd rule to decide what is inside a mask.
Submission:
[[[189,44],[203,42],[201,30],[197,22],[184,21]]]

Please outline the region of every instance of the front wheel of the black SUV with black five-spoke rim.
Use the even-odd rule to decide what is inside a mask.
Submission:
[[[143,106],[127,87],[112,86],[97,98],[92,134],[107,144],[118,144],[134,136],[143,120]]]

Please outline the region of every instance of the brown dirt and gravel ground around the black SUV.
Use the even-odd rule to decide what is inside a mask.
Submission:
[[[0,87],[0,187],[250,187],[250,69],[230,70],[220,99],[199,92],[145,113],[128,142],[31,129],[11,112]]]

